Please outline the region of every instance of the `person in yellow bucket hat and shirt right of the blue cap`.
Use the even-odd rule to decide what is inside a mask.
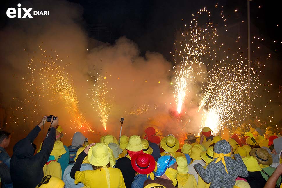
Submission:
[[[193,175],[188,174],[187,160],[185,157],[179,156],[177,162],[177,182],[178,188],[196,188],[197,182]]]

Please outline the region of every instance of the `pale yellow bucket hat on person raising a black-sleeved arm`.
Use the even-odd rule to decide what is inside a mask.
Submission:
[[[89,149],[88,160],[97,167],[107,165],[110,162],[109,147],[105,143],[96,143]]]

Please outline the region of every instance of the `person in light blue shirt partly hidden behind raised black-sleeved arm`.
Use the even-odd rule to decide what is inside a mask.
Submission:
[[[76,153],[76,157],[74,158],[74,161],[77,160],[77,157],[79,156],[79,154],[85,149],[85,147],[80,147],[78,150],[77,150],[77,153]],[[75,163],[74,163],[75,164]],[[63,175],[63,181],[65,182],[65,188],[81,188],[83,187],[83,183],[78,183],[77,185],[74,183],[74,179],[72,179],[70,177],[70,172],[72,170],[72,167],[74,166],[74,164],[71,164],[69,165],[66,169],[65,169],[65,172],[64,172],[64,175]],[[86,156],[84,158],[84,160],[82,161],[82,164],[80,166],[80,171],[84,171],[84,170],[93,170],[92,166],[89,164],[89,160],[88,160],[88,156]]]

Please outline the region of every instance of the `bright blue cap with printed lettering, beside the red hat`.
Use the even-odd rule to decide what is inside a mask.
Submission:
[[[156,177],[163,176],[167,168],[173,165],[176,162],[176,159],[170,155],[164,155],[158,159],[157,162],[157,171],[155,173]]]

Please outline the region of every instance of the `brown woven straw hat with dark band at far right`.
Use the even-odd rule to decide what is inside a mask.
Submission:
[[[250,155],[256,158],[259,164],[263,164],[263,165],[272,164],[272,156],[268,153],[266,149],[263,148],[251,149]]]

